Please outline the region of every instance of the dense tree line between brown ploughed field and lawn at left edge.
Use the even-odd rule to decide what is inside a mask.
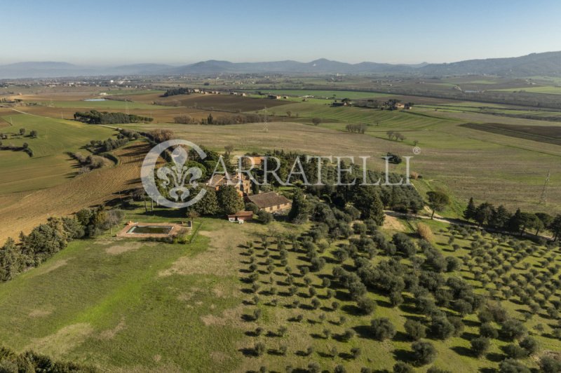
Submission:
[[[21,233],[19,244],[8,238],[0,248],[0,281],[11,280],[18,273],[39,266],[71,240],[95,237],[112,229],[121,219],[121,210],[83,209],[74,217],[51,217],[28,235]]]

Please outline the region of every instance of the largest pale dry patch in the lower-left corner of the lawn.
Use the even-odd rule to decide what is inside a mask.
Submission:
[[[61,356],[80,346],[93,333],[88,323],[68,325],[43,338],[34,339],[26,349]]]

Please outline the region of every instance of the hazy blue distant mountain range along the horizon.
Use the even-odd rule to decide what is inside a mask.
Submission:
[[[297,62],[228,62],[208,60],[191,65],[136,64],[83,67],[67,62],[18,62],[0,65],[0,79],[72,76],[187,75],[187,74],[393,74],[419,76],[496,75],[508,77],[561,76],[561,52],[532,53],[522,57],[466,60],[453,63],[392,65],[377,62],[349,64],[331,60]]]

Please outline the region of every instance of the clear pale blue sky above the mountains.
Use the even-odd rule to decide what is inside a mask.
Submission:
[[[0,0],[0,64],[454,62],[561,50],[559,0]]]

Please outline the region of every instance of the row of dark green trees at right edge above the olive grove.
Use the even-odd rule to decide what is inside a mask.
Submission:
[[[545,212],[522,212],[517,209],[514,213],[503,205],[495,207],[492,203],[484,202],[476,206],[470,198],[464,217],[480,226],[489,226],[499,231],[508,231],[523,235],[526,231],[538,235],[543,230],[553,233],[553,239],[561,236],[561,215],[555,217]]]

